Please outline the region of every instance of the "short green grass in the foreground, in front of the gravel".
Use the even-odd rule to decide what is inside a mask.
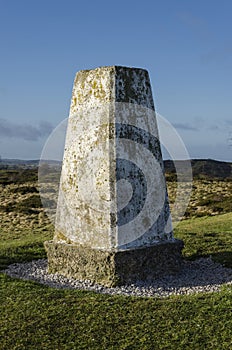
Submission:
[[[3,349],[229,349],[231,290],[165,300],[55,290],[2,276]]]

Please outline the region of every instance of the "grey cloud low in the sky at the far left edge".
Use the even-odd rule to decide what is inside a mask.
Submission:
[[[19,138],[26,141],[37,141],[50,134],[52,125],[41,121],[39,125],[17,124],[0,118],[0,137]]]

